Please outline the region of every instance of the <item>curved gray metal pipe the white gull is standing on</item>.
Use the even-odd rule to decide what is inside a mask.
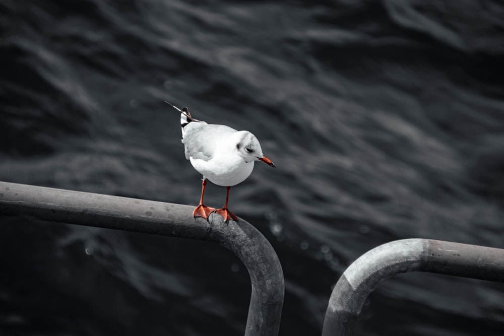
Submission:
[[[193,207],[0,182],[0,215],[206,240],[233,251],[252,283],[245,336],[278,335],[284,299],[280,261],[268,240],[240,219],[193,218]]]

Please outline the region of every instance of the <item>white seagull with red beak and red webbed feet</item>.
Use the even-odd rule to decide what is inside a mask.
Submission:
[[[263,161],[273,168],[276,166],[263,155],[259,141],[249,131],[238,131],[225,125],[208,124],[193,118],[187,107],[180,110],[167,101],[165,103],[180,112],[185,158],[191,161],[194,169],[203,175],[200,203],[193,211],[193,217],[208,220],[208,216],[215,212],[222,216],[225,222],[229,220],[237,222],[238,217],[227,208],[229,189],[243,182],[250,175],[255,161]],[[221,209],[216,210],[203,204],[207,179],[214,184],[226,187],[226,202]]]

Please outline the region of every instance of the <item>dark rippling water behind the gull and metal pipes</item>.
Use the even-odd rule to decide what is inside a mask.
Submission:
[[[195,205],[178,115],[248,129],[230,208],[282,262],[281,335],[402,238],[504,247],[504,5],[495,1],[0,4],[0,180]],[[220,206],[225,189],[207,188]],[[0,219],[2,335],[236,335],[247,272],[210,243]],[[408,274],[362,335],[504,334],[501,284]]]

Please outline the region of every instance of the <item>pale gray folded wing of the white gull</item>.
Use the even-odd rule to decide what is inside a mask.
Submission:
[[[189,126],[191,127],[187,128]],[[225,125],[191,122],[185,126],[184,132],[182,144],[185,147],[185,158],[189,160],[193,157],[208,161],[212,158],[215,148],[219,146],[221,137],[236,132],[236,129]]]

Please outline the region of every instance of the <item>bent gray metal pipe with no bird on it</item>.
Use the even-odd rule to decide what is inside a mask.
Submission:
[[[504,282],[504,249],[430,239],[378,246],[355,260],[333,289],[322,336],[351,336],[368,295],[382,281],[406,272],[430,272]]]

